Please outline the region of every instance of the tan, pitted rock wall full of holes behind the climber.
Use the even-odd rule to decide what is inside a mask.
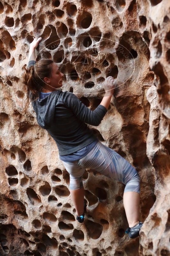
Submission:
[[[169,256],[170,2],[0,2],[0,255]],[[75,221],[69,174],[29,105],[22,115],[33,36],[37,60],[52,58],[72,91],[94,110],[102,83],[117,79],[107,114],[89,127],[141,177],[140,237],[130,239],[124,184],[87,169],[86,220]]]

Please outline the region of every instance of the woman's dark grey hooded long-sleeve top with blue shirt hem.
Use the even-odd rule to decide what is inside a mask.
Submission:
[[[28,67],[32,65],[35,61],[28,62]],[[31,103],[39,126],[53,137],[61,156],[76,152],[96,140],[87,124],[98,126],[107,112],[103,105],[92,111],[74,93],[61,89]]]

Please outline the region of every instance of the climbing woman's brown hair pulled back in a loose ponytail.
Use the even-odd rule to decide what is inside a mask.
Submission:
[[[30,102],[36,100],[39,97],[39,92],[45,88],[46,82],[44,81],[44,77],[51,76],[53,62],[51,59],[44,59],[37,61],[34,66],[30,66],[29,68],[24,66],[25,71],[22,75],[22,83],[27,88],[27,101],[22,114],[26,112]],[[30,91],[32,92],[31,98]]]

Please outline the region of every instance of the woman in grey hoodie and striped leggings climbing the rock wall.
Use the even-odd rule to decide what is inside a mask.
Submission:
[[[139,221],[140,177],[131,164],[116,151],[103,145],[88,128],[98,126],[106,114],[114,92],[115,81],[109,76],[103,88],[105,95],[98,107],[91,111],[72,92],[62,91],[63,74],[51,59],[36,60],[35,49],[41,37],[32,41],[29,62],[23,74],[27,88],[27,103],[36,112],[40,127],[55,140],[59,157],[70,174],[70,195],[76,209],[76,219],[82,223],[85,216],[82,175],[86,168],[125,184],[123,203],[129,224],[125,233],[139,236],[143,225]],[[30,102],[29,102],[30,100]]]

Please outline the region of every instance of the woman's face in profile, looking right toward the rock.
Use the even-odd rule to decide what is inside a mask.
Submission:
[[[51,76],[45,77],[44,81],[55,88],[61,87],[64,75],[60,72],[55,62],[53,62],[52,67]]]

